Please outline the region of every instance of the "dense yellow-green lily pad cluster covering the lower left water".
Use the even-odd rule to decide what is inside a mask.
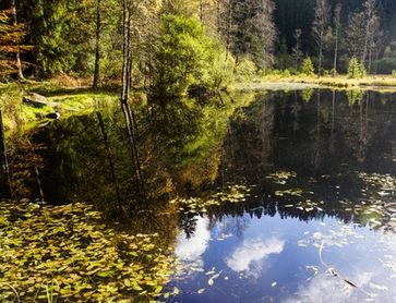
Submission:
[[[108,228],[85,204],[2,202],[0,302],[156,302],[176,270],[159,242]]]

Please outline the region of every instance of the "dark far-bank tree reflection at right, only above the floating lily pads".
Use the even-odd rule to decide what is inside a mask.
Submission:
[[[311,102],[296,101],[292,94],[259,98],[243,119],[231,122],[223,166],[260,179],[259,171],[268,167],[321,175],[345,163],[359,169],[359,162],[368,165],[374,158],[383,162],[375,149],[383,150],[393,140],[394,122],[392,102],[381,105],[380,98],[368,93],[353,106],[344,93],[326,90],[316,92]]]

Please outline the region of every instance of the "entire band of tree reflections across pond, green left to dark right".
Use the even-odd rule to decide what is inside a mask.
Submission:
[[[175,192],[207,193],[213,190],[216,178],[217,185],[241,181],[256,184],[256,193],[248,203],[211,210],[214,220],[225,215],[238,218],[239,222],[233,226],[239,230],[243,230],[241,218],[245,214],[257,218],[279,214],[283,218],[301,220],[335,216],[357,221],[337,202],[359,197],[360,183],[348,177],[316,180],[315,185],[307,180],[322,174],[344,175],[346,171],[367,167],[379,171],[392,169],[388,163],[396,154],[393,102],[382,105],[377,99],[377,95],[370,93],[359,104],[349,106],[345,95],[338,93],[320,93],[311,102],[301,100],[298,94],[259,94],[256,102],[238,110],[231,121],[228,118],[235,108],[227,107],[218,111],[206,108],[215,111],[211,116],[215,119],[204,118],[208,112],[204,114],[200,107],[189,109],[179,104],[166,112],[155,108],[148,116],[141,112],[137,140],[147,192],[153,201],[164,202]],[[135,201],[137,189],[121,113],[103,111],[103,120],[107,143],[96,114],[59,120],[27,136],[33,138],[33,144],[43,143],[45,149],[32,150],[15,138],[14,146],[19,149],[10,153],[10,170],[16,173],[24,167],[13,178],[13,184],[21,185],[21,197],[39,196],[37,178],[32,172],[37,167],[45,197],[51,202],[79,199],[111,208],[119,187],[122,203],[130,204],[130,210],[139,211],[141,203]],[[109,156],[113,159],[112,169]],[[315,195],[310,198],[328,203],[324,210],[307,213],[288,208],[285,205],[290,201],[274,198],[276,189],[265,177],[277,169],[296,171],[305,181],[295,185],[313,191]],[[24,178],[22,173],[29,175]],[[25,181],[21,183],[21,180]],[[335,190],[336,185],[341,186],[340,193]],[[180,225],[193,233],[193,218],[182,217]]]

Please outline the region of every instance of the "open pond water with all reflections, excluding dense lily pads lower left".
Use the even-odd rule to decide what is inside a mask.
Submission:
[[[395,302],[396,95],[225,98],[137,113],[145,207],[129,203],[139,189],[108,106],[15,135],[14,194],[110,218],[128,205],[129,231],[159,233],[178,259],[159,301]]]

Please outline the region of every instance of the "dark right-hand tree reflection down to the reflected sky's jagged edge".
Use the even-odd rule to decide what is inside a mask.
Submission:
[[[296,100],[290,94],[259,97],[231,121],[221,161],[228,172],[226,182],[248,181],[257,185],[256,192],[244,204],[211,209],[211,218],[221,221],[228,216],[261,218],[278,214],[280,218],[304,221],[335,217],[360,223],[362,208],[355,203],[364,199],[370,204],[370,197],[362,195],[365,185],[349,172],[371,167],[389,170],[392,156],[384,156],[395,154],[392,112],[392,104],[379,104],[373,93],[352,106],[344,93],[335,92],[317,92],[313,102]],[[299,182],[289,186],[313,194],[274,197],[277,189],[265,179],[274,168],[297,171]],[[289,206],[304,201],[325,203],[310,211]],[[352,202],[348,210],[340,201]]]

